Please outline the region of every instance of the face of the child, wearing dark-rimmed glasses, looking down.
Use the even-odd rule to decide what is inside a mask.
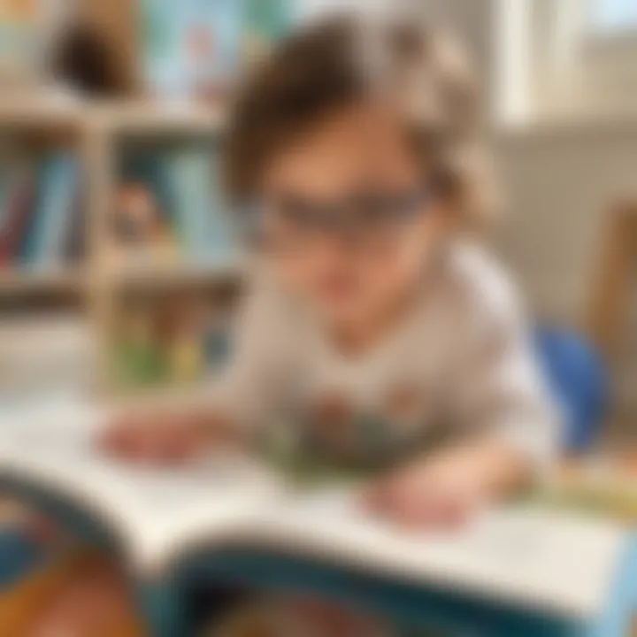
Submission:
[[[372,105],[280,152],[263,191],[274,271],[330,322],[365,320],[409,294],[445,228],[403,128]]]

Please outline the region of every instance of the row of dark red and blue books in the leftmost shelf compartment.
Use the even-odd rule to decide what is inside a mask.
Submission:
[[[0,267],[50,269],[84,249],[81,171],[65,150],[6,163],[0,173]]]

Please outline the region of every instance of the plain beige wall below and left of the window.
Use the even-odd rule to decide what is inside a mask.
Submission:
[[[462,35],[495,98],[498,0],[412,0]],[[494,104],[490,104],[491,110]],[[619,196],[637,199],[637,113],[595,126],[495,128],[508,196],[500,245],[542,315],[581,325],[605,213]]]

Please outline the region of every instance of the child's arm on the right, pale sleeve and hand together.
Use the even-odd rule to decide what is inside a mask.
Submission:
[[[497,300],[467,315],[472,329],[449,379],[457,443],[381,480],[373,508],[408,525],[456,524],[518,494],[551,464],[556,414],[518,304],[512,295]]]

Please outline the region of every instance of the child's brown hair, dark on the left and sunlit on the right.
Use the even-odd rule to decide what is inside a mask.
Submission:
[[[230,203],[251,203],[267,162],[334,111],[393,100],[423,171],[470,225],[495,206],[480,142],[479,91],[463,51],[410,19],[340,16],[305,27],[238,92],[226,136]],[[390,102],[391,104],[391,102]]]

